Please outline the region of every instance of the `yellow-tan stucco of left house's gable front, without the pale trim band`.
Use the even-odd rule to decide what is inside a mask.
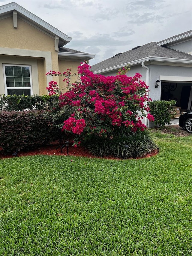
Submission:
[[[45,51],[46,53],[50,52],[51,67],[49,64],[49,68],[51,70],[58,70],[58,52],[55,51],[54,38],[50,37],[49,35],[46,35],[44,32],[38,30],[37,28],[33,27],[27,22],[19,19],[19,17],[17,17],[17,28],[13,28],[13,17],[8,17],[0,20],[0,35],[1,35],[0,47],[32,50],[34,51],[34,56],[38,55],[38,54],[35,55],[35,53],[38,53],[38,51],[41,51],[41,52]],[[12,60],[9,60],[8,59],[9,56],[7,56],[8,64],[17,64],[16,62],[14,63],[12,62],[13,57],[14,57],[13,54],[10,55],[10,58],[12,58]],[[46,58],[39,59],[35,57],[33,57],[32,59],[38,63],[37,65],[38,72],[33,75],[34,76],[36,75],[39,80],[39,94],[47,94],[46,87],[48,85],[47,85],[47,79],[45,76],[46,72],[49,71],[47,70],[48,65],[45,65],[47,60]],[[0,67],[0,74],[1,73],[2,73],[2,66]],[[2,80],[2,77],[0,77],[0,83],[2,84],[1,80]],[[58,77],[55,77],[55,80],[59,83]],[[37,82],[37,79],[35,82]],[[34,81],[33,81],[33,86],[36,86],[36,84],[34,84]],[[0,93],[2,93],[3,91],[4,89],[1,88]],[[37,92],[37,90],[33,89],[34,94],[35,92]]]

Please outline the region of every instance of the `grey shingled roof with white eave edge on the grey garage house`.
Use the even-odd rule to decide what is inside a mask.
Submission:
[[[122,68],[128,64],[137,65],[141,62],[152,60],[161,62],[169,61],[176,63],[191,63],[192,55],[171,48],[159,46],[156,42],[151,42],[99,62],[91,67],[91,71],[95,73],[104,73]]]

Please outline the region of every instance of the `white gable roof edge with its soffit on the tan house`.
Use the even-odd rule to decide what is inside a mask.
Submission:
[[[13,11],[17,11],[21,19],[24,18],[25,20],[32,23],[32,25],[35,25],[38,29],[43,30],[44,32],[51,35],[52,37],[58,36],[59,47],[64,46],[65,44],[67,44],[72,40],[72,38],[68,37],[68,35],[54,28],[44,20],[41,20],[35,14],[32,14],[31,12],[27,11],[25,8],[16,4],[15,2],[0,6],[0,19],[11,16]]]

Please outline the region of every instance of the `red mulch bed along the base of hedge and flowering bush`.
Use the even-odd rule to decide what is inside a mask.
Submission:
[[[1,150],[0,150],[1,153]],[[137,157],[137,159],[139,158],[146,158],[146,157],[151,157],[154,155],[158,154],[158,150],[155,150],[154,152],[145,155],[144,157]],[[62,148],[62,153],[61,153],[61,148],[58,148],[58,144],[52,144],[50,146],[44,146],[41,147],[39,149],[34,149],[34,150],[30,150],[30,151],[20,151],[18,152],[17,156],[28,156],[28,155],[67,155],[67,147],[65,146],[64,148]],[[89,158],[100,158],[100,157],[95,157],[92,156],[87,149],[81,147],[81,146],[77,146],[76,148],[74,146],[72,146],[72,143],[69,144],[68,147],[68,155],[70,156],[84,156],[84,157],[89,157]],[[15,157],[12,154],[10,155],[2,155],[0,154],[0,159],[2,158],[11,158],[11,157]],[[115,158],[115,157],[104,157],[106,159],[113,159],[113,160],[119,160],[120,158]]]

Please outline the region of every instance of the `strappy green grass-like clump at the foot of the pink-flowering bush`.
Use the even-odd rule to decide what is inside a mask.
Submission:
[[[91,140],[84,141],[88,151],[92,155],[117,158],[141,157],[158,149],[158,145],[152,138],[149,130],[138,130],[132,134],[119,134],[113,138],[94,136]],[[125,145],[128,145],[126,148]]]

